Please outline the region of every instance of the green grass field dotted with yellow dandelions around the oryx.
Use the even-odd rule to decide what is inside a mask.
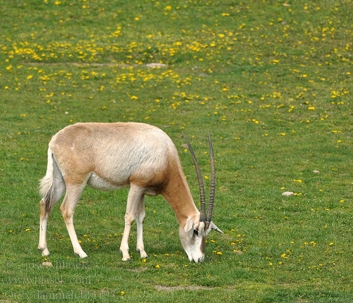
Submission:
[[[0,302],[353,302],[351,11],[344,0],[2,1]],[[74,220],[87,259],[60,203],[50,255],[37,250],[51,136],[115,121],[171,137],[196,204],[182,130],[206,192],[210,130],[224,235],[209,234],[203,264],[189,262],[161,196],[146,198],[149,259],[134,225],[133,261],[121,261],[128,189],[84,190]]]

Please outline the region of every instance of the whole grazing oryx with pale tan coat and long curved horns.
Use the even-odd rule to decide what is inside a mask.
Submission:
[[[183,133],[184,135],[184,133]],[[197,171],[201,213],[197,210],[178,157],[177,148],[161,129],[143,123],[77,123],[56,133],[49,142],[46,175],[40,180],[40,229],[38,249],[49,255],[46,228],[50,212],[66,190],[60,207],[75,255],[87,257],[74,228],[74,211],[86,184],[100,190],[129,187],[125,228],[120,251],[129,260],[129,234],[137,224],[137,245],[146,258],[142,236],[145,219],[144,196],[162,196],[180,224],[179,235],[190,259],[205,258],[205,239],[211,229],[223,233],[211,222],[215,191],[215,169],[210,134],[211,190],[206,214],[205,191],[200,167],[184,135]]]

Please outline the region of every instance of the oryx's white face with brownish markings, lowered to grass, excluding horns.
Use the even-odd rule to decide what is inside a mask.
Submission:
[[[205,240],[211,230],[211,225],[205,231],[205,223],[195,224],[188,218],[184,228],[179,229],[180,241],[190,261],[203,262],[205,259]]]

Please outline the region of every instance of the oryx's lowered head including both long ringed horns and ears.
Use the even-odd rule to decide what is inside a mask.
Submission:
[[[214,192],[215,192],[215,168],[214,168],[214,156],[213,156],[213,147],[211,142],[210,132],[208,132],[208,140],[210,144],[210,155],[211,155],[211,189],[210,189],[210,197],[206,215],[206,199],[205,199],[205,189],[203,186],[202,175],[200,166],[197,162],[195,153],[193,148],[190,145],[188,138],[185,136],[183,132],[184,138],[188,143],[191,156],[193,157],[197,178],[199,181],[200,187],[200,218],[189,217],[185,227],[180,227],[179,236],[182,242],[182,245],[189,257],[190,261],[203,262],[205,259],[205,243],[206,237],[211,229],[223,233],[213,222],[211,222],[212,211],[213,211],[213,203],[214,203]]]

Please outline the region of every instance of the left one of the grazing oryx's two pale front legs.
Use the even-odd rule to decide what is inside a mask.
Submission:
[[[129,195],[128,195],[128,204],[126,206],[125,213],[125,228],[124,235],[122,238],[122,244],[120,245],[120,252],[123,254],[123,261],[130,260],[129,255],[129,235],[131,225],[134,223],[136,218],[136,213],[140,204],[140,200],[143,196],[144,188],[131,184]]]

